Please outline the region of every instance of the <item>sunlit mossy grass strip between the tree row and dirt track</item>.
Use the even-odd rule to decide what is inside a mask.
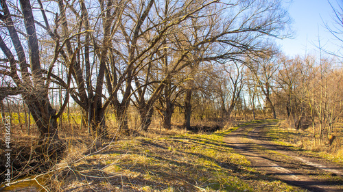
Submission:
[[[227,146],[223,138],[236,128],[211,134],[164,131],[160,137],[152,133],[102,143],[101,152],[84,152],[81,159],[62,161],[59,166],[67,168],[57,168],[56,182],[50,187],[60,191],[301,191],[260,174]]]

